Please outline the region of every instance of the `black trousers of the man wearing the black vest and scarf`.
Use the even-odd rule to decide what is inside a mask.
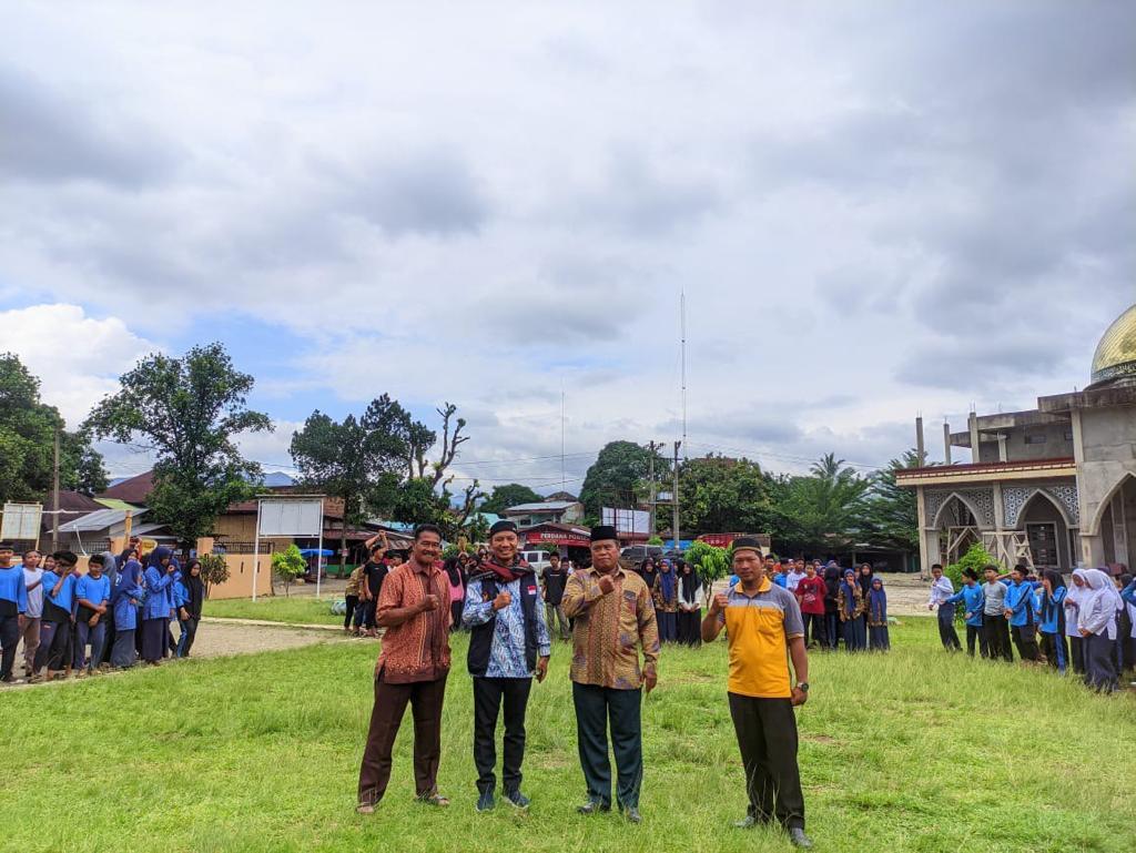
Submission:
[[[474,677],[474,766],[477,791],[496,787],[496,721],[504,705],[504,760],[501,781],[506,793],[520,791],[520,766],[525,760],[525,710],[532,678]]]

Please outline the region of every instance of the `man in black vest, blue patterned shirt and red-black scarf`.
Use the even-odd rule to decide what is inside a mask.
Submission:
[[[477,766],[477,811],[494,805],[498,716],[504,704],[504,798],[528,808],[520,793],[525,758],[525,709],[533,676],[543,681],[552,644],[536,574],[517,555],[517,525],[498,521],[490,528],[491,554],[466,587],[461,622],[470,629],[469,674],[474,677],[474,763]]]

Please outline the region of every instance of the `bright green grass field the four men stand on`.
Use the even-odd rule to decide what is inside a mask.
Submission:
[[[208,625],[202,630],[208,630]],[[816,655],[799,713],[809,831],[824,851],[1131,851],[1136,700],[937,649]],[[454,643],[463,660],[465,641]],[[752,851],[724,694],[725,646],[666,650],[644,704],[640,827],[580,818],[567,647],[534,687],[528,814],[474,812],[469,678],[456,667],[440,784],[412,802],[410,720],[387,797],[354,814],[376,644],[190,660],[0,695],[0,848],[22,851]]]

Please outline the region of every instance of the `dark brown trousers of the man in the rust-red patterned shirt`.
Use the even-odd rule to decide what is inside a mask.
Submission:
[[[375,805],[391,780],[391,753],[407,703],[415,721],[415,791],[419,797],[437,792],[442,760],[442,701],[445,676],[435,681],[389,684],[375,678],[375,706],[370,712],[367,746],[359,769],[359,803]]]

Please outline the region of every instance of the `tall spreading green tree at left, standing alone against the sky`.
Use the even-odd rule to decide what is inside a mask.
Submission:
[[[147,356],[103,398],[86,428],[120,444],[141,437],[153,451],[153,518],[192,544],[212,532],[217,516],[253,493],[260,466],[236,448],[241,433],[270,430],[267,415],[247,407],[253,378],[240,373],[220,343],[182,358]]]

